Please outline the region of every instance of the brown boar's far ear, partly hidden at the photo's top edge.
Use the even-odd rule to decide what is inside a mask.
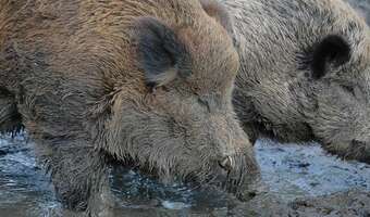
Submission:
[[[217,0],[199,0],[206,13],[215,18],[229,34],[233,34],[233,22],[226,8]]]

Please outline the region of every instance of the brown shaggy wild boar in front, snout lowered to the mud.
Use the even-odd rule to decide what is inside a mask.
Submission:
[[[205,2],[0,0],[0,129],[25,126],[67,207],[97,208],[112,159],[233,192],[258,174],[230,22]]]

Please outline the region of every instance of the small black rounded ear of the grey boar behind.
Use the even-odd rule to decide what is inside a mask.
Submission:
[[[340,36],[326,36],[313,49],[312,77],[319,79],[330,71],[330,67],[344,65],[349,59],[350,47],[348,42]]]

